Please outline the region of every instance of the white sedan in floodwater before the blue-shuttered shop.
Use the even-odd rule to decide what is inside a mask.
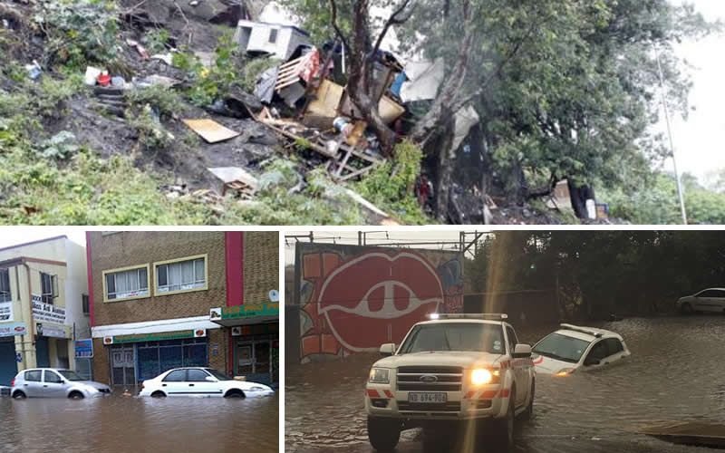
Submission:
[[[269,386],[257,382],[237,381],[213,368],[175,368],[141,382],[139,396],[197,396],[248,398],[275,393]]]

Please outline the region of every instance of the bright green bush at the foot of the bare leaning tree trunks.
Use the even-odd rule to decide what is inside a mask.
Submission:
[[[404,141],[394,150],[394,159],[376,167],[355,186],[362,198],[380,207],[404,224],[433,223],[420,208],[414,195],[415,180],[420,175],[423,153],[414,144]]]

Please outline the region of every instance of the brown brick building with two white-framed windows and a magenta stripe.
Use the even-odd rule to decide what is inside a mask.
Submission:
[[[128,388],[180,366],[277,381],[278,316],[248,313],[244,329],[211,319],[278,288],[277,241],[275,232],[89,232],[96,381]]]

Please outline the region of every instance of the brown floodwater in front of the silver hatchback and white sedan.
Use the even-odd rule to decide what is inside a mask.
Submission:
[[[279,451],[279,398],[0,398],[0,451]]]

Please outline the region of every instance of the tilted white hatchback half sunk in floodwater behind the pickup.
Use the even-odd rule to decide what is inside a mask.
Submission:
[[[536,372],[566,376],[591,371],[630,356],[621,335],[594,327],[561,324],[532,348]]]

